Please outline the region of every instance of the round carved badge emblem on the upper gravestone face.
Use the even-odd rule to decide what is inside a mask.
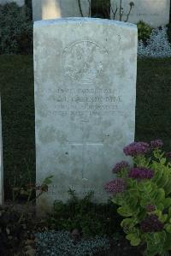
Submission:
[[[91,40],[84,39],[66,47],[62,53],[64,75],[81,84],[92,84],[103,75],[103,61],[108,51]]]

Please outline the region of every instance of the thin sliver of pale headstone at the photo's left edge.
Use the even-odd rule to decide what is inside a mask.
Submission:
[[[0,96],[0,205],[3,205],[3,142],[2,142],[2,118]]]

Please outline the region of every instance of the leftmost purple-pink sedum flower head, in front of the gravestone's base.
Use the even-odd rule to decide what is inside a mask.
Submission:
[[[104,189],[108,193],[123,193],[126,190],[126,182],[122,178],[117,178],[111,182],[106,183]]]

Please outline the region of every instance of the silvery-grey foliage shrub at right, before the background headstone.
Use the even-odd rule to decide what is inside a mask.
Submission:
[[[166,27],[153,29],[146,45],[140,40],[139,57],[171,57],[171,45],[168,42]]]

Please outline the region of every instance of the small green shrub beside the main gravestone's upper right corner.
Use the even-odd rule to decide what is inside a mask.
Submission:
[[[147,39],[150,39],[150,33],[152,32],[152,28],[144,21],[139,21],[137,23],[137,27],[139,40],[142,40],[143,43],[146,43]]]

